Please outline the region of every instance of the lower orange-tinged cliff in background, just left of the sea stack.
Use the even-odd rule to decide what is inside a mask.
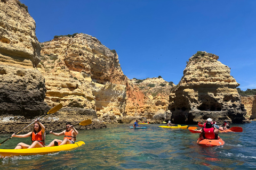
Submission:
[[[174,84],[163,78],[147,78],[145,80],[132,79],[134,90],[129,94],[126,104],[127,115],[142,116],[147,119],[159,112],[166,112],[169,106],[169,95]]]

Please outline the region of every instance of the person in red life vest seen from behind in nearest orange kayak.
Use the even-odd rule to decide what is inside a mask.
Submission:
[[[199,135],[199,138],[203,137],[204,139],[218,139],[219,130],[212,125],[211,122],[205,124],[205,128],[202,129],[202,132]]]

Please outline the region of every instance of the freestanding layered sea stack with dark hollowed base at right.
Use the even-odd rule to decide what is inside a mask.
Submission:
[[[239,84],[218,58],[206,52],[189,58],[181,81],[170,95],[172,122],[193,124],[209,117],[217,122],[247,122],[236,89]]]

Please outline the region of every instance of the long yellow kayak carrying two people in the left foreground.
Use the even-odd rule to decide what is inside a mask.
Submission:
[[[21,155],[44,155],[63,150],[70,150],[85,145],[83,141],[75,142],[74,144],[66,144],[61,146],[31,148],[31,149],[0,149],[0,158],[6,156],[21,156]]]

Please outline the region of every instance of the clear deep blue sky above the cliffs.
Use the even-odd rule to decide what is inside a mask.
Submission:
[[[178,84],[186,61],[206,51],[231,68],[242,90],[256,88],[256,1],[20,0],[40,42],[86,33],[115,49],[129,78]]]

